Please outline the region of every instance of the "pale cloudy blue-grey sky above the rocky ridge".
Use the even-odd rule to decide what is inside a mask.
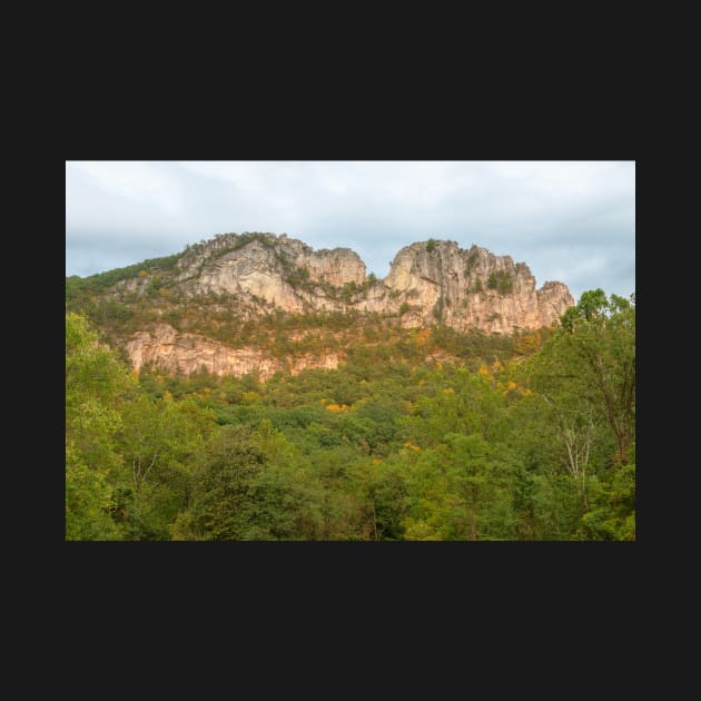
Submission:
[[[635,289],[634,161],[67,161],[66,274],[228,231],[346,246],[387,274],[413,241],[477,244],[575,298]]]

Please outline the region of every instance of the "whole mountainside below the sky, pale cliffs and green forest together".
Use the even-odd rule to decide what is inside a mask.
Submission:
[[[635,298],[452,241],[66,280],[67,540],[635,540]]]

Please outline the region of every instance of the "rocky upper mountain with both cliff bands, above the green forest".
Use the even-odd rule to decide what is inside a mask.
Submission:
[[[564,284],[536,289],[524,263],[474,245],[412,244],[378,279],[348,248],[314,250],[284,234],[219,235],[172,256],[67,278],[66,288],[67,308],[86,314],[137,371],[263,379],[337,367],[357,344],[388,344],[395,357],[415,359],[509,347],[555,326],[574,304]],[[422,330],[428,335],[418,343]],[[436,338],[446,343],[438,348]]]

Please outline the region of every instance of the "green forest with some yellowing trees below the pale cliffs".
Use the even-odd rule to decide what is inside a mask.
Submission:
[[[136,372],[67,310],[66,540],[635,540],[634,295],[513,337],[332,322],[337,369],[260,382]]]

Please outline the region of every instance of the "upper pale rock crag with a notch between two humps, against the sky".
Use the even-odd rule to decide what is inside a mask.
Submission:
[[[562,283],[536,290],[529,267],[511,256],[446,240],[402,248],[387,277],[371,282],[348,248],[314,250],[285,234],[226,234],[186,253],[174,282],[186,296],[253,300],[258,314],[402,309],[405,327],[438,320],[457,330],[501,334],[552,326],[574,304]]]

